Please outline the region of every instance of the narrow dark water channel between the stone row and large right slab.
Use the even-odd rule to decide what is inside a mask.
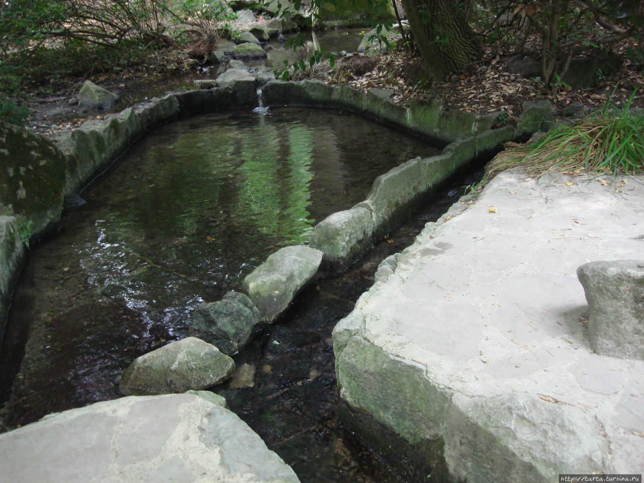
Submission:
[[[314,279],[265,337],[235,357],[236,376],[213,388],[303,483],[404,481],[337,420],[331,332],[373,285],[377,265],[411,245],[482,174],[482,164],[457,173],[344,274]]]

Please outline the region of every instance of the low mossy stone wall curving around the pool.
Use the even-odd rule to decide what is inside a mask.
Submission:
[[[248,108],[256,106],[257,102],[256,83],[238,81],[226,88],[170,93],[161,99],[152,99],[109,115],[104,120],[88,121],[57,139],[57,149],[48,147],[57,151],[55,166],[59,173],[46,183],[34,184],[24,196],[39,198],[41,191],[50,189],[52,183],[60,184],[64,194],[77,193],[126,151],[129,144],[154,126],[182,115]],[[498,149],[502,142],[525,138],[538,130],[551,113],[547,102],[528,104],[524,106],[524,115],[516,127],[491,129],[500,113],[477,115],[454,111],[447,109],[444,102],[438,99],[428,104],[413,103],[404,107],[374,93],[363,93],[348,86],[329,86],[319,81],[269,82],[263,87],[263,102],[267,106],[308,105],[352,109],[380,122],[413,131],[433,142],[451,143],[439,156],[415,158],[379,176],[365,201],[317,223],[310,236],[310,246],[323,252],[323,260],[336,269],[343,269],[364,254],[376,238],[397,222],[398,214],[405,207],[460,166]],[[34,156],[34,164],[43,157],[37,153]],[[30,209],[21,211],[17,207],[1,204],[5,202],[7,193],[15,187],[10,189],[7,185],[0,185],[0,188],[0,207],[4,207],[0,214],[8,215],[6,220],[1,220],[3,229],[0,231],[2,334],[16,271],[21,266],[21,243],[16,241],[19,226],[14,223],[15,219],[22,220],[23,226],[28,220],[37,220],[26,237],[35,240],[59,220],[62,196],[52,200],[46,211],[46,219],[43,219],[41,212]],[[254,303],[261,305],[261,301],[254,300]]]

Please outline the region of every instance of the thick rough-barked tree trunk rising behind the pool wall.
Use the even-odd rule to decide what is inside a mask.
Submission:
[[[482,49],[455,0],[402,0],[430,81],[445,79],[478,61]]]

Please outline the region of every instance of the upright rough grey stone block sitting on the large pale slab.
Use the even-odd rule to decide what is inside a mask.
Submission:
[[[577,276],[591,308],[592,349],[644,360],[644,260],[591,261]]]

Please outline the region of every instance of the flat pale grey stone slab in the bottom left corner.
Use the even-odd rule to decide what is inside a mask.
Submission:
[[[225,400],[130,396],[54,413],[0,434],[12,483],[299,482]]]

